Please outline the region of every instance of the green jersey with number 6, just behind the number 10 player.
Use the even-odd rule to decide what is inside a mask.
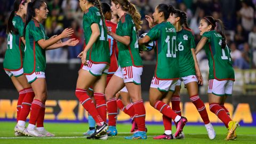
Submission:
[[[180,77],[195,75],[195,62],[191,49],[195,49],[196,46],[191,31],[182,29],[177,32],[177,47],[179,50]]]

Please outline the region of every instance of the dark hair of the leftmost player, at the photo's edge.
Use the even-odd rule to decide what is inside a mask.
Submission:
[[[7,28],[6,28],[6,34],[9,34],[9,33],[14,33],[14,34],[19,34],[19,31],[17,29],[14,28],[13,24],[12,24],[12,19],[15,15],[15,13],[19,10],[20,8],[20,5],[25,5],[27,1],[22,1],[22,0],[15,0],[14,1],[14,10],[12,10],[11,14],[10,14],[10,17],[8,19],[8,23],[7,23]]]

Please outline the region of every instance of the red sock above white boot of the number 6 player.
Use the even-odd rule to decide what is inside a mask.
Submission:
[[[210,121],[204,106],[204,102],[199,98],[198,95],[191,96],[190,101],[193,102],[194,105],[196,106],[196,109],[198,113],[201,115],[201,118],[203,119],[204,124],[209,124]]]

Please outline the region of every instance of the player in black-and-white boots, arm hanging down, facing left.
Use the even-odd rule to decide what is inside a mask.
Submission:
[[[107,107],[104,93],[110,57],[106,24],[99,0],[80,0],[79,5],[84,12],[83,29],[86,46],[78,55],[84,66],[79,70],[75,94],[97,124],[95,132],[87,139],[92,139],[94,136],[107,139]],[[96,107],[87,94],[87,89],[91,85]]]

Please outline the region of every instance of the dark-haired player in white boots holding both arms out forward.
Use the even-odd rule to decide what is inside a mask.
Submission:
[[[45,35],[42,21],[47,18],[47,5],[43,0],[29,2],[27,6],[26,23],[23,36],[26,39],[25,58],[23,62],[24,74],[35,92],[35,99],[31,105],[29,125],[25,131],[26,135],[33,137],[53,137],[54,134],[47,132],[43,127],[45,112],[45,101],[47,90],[45,82],[45,50],[57,49],[65,45],[74,46],[78,40],[69,39],[66,42],[59,42],[61,38],[66,38],[74,33],[72,29],[65,29],[63,32],[48,39]],[[42,118],[40,118],[42,117]],[[42,124],[35,126],[41,119]]]

